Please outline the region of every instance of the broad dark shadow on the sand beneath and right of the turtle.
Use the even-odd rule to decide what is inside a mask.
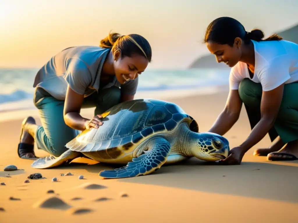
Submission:
[[[287,164],[268,161],[223,166],[191,158],[176,165],[164,165],[150,175],[118,181],[298,203],[298,162]],[[74,161],[56,168],[86,169],[98,174],[101,170],[122,166]]]

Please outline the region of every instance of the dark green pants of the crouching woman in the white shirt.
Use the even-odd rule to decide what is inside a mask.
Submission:
[[[245,105],[251,128],[260,121],[261,118],[261,98],[262,86],[249,78],[240,82],[239,95]],[[277,136],[284,143],[298,139],[298,83],[285,84],[283,99],[274,123],[268,132],[271,142]],[[273,99],[274,100],[274,99]]]

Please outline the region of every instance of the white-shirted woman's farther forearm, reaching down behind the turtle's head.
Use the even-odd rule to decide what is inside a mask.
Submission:
[[[216,133],[222,136],[232,128],[232,126],[237,122],[238,118],[238,113],[229,113],[224,110],[218,116],[217,120],[208,132]]]

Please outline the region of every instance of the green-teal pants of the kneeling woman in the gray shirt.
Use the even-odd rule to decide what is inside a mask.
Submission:
[[[120,89],[113,86],[84,98],[82,108],[95,107],[95,116],[120,103],[120,97]],[[35,135],[37,147],[53,156],[60,156],[67,150],[66,143],[74,139],[81,131],[65,124],[64,100],[57,100],[40,89],[35,93],[34,102],[42,123]]]

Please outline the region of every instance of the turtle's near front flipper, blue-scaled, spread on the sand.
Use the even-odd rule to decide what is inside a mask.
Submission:
[[[170,143],[162,137],[155,137],[146,146],[149,148],[146,153],[133,158],[125,167],[103,170],[99,175],[103,178],[128,178],[147,175],[159,169],[170,154]]]

